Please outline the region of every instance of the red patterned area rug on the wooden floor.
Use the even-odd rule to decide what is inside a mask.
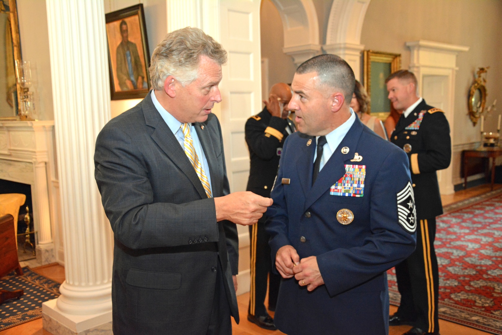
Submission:
[[[502,335],[502,195],[437,218],[439,317]],[[388,271],[393,305],[401,299]]]

